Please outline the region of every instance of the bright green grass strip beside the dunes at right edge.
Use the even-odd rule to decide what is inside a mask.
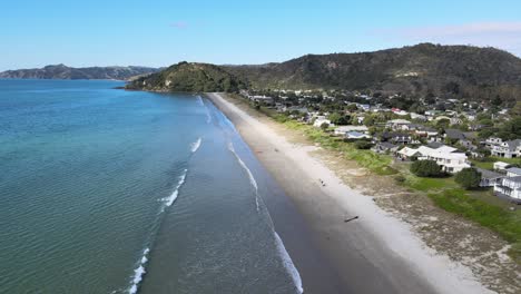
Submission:
[[[510,256],[521,262],[521,210],[511,212],[472,197],[466,190],[459,188],[427,195],[436,206],[498,233],[512,245]]]

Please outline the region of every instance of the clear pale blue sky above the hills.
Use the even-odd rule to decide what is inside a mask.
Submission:
[[[521,57],[519,0],[2,0],[0,71],[278,62],[419,42]]]

